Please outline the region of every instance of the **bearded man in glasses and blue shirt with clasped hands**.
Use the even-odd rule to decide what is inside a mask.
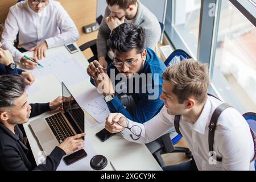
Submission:
[[[166,69],[155,52],[145,46],[145,39],[144,28],[119,25],[109,38],[114,52],[112,64],[106,70],[95,60],[87,69],[110,112],[122,113],[139,123],[148,121],[162,108],[161,75]]]

